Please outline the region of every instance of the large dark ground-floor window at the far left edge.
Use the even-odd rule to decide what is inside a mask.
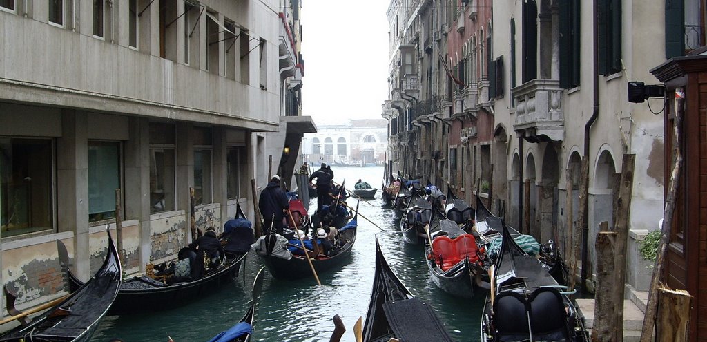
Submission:
[[[54,226],[52,148],[50,139],[0,137],[0,229],[3,237],[39,232]]]

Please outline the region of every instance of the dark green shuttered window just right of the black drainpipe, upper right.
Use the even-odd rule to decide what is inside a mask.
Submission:
[[[599,72],[604,75],[621,71],[621,0],[600,0]]]

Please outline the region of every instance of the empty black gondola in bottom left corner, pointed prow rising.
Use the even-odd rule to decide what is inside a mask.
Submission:
[[[0,336],[0,341],[89,341],[114,302],[121,277],[118,252],[108,233],[108,252],[98,272],[28,325],[18,326]]]

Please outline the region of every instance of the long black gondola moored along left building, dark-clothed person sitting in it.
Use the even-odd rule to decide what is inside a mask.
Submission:
[[[236,218],[247,220],[240,205],[236,208]],[[227,237],[221,239],[223,244],[227,244]],[[66,250],[61,244],[59,250]],[[144,312],[156,312],[165,309],[180,307],[188,302],[199,300],[205,295],[214,292],[215,289],[233,281],[240,269],[240,265],[245,261],[248,249],[242,252],[226,251],[226,258],[223,263],[213,270],[206,270],[201,278],[196,280],[180,281],[170,283],[167,278],[157,280],[145,275],[136,275],[125,280],[120,286],[115,303],[108,312],[109,315],[123,315]],[[60,258],[67,258],[66,253],[59,253]],[[68,262],[68,261],[67,261]],[[69,287],[74,288],[82,284],[81,280],[66,268],[69,278]]]

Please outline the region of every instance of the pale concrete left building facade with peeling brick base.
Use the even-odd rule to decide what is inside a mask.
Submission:
[[[288,141],[268,135],[314,127],[291,119],[298,4],[0,1],[0,283],[19,302],[59,295],[56,239],[86,280],[116,207],[127,273],[237,203],[252,217],[250,180],[267,183],[264,154],[279,164]]]

